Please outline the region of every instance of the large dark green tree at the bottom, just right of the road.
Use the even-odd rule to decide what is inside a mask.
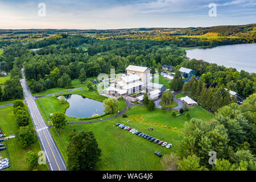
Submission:
[[[69,135],[67,153],[69,171],[88,171],[96,168],[101,149],[92,131],[80,131]]]

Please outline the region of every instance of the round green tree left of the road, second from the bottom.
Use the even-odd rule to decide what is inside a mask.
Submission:
[[[19,133],[16,135],[20,146],[31,146],[35,142],[34,131],[28,126],[19,127]]]

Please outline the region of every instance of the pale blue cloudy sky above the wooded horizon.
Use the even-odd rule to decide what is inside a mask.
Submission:
[[[0,0],[0,22],[1,29],[249,24],[256,23],[256,0]]]

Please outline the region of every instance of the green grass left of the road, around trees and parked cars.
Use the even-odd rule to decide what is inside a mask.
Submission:
[[[28,113],[28,111],[27,111]],[[7,137],[9,135],[15,135],[19,131],[19,127],[16,123],[16,119],[13,113],[13,106],[0,108],[0,129],[3,134]],[[33,127],[32,121],[30,119],[30,126]],[[25,171],[28,170],[27,164],[25,162],[26,154],[28,151],[41,151],[40,143],[37,140],[34,144],[29,147],[22,148],[20,147],[18,140],[16,138],[10,138],[7,140],[7,150],[0,151],[0,156],[2,158],[8,158],[7,152],[10,159],[10,167],[5,170],[13,171]],[[6,147],[6,143],[5,147]],[[38,170],[45,171],[48,170],[47,165],[39,165]]]

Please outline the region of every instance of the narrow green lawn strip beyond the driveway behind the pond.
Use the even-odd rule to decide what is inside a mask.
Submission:
[[[72,88],[68,88],[68,89],[65,89],[65,88],[52,88],[52,89],[47,89],[47,90],[44,90],[43,92],[38,92],[38,93],[33,93],[34,96],[45,96],[45,95],[48,95],[48,94],[52,94],[52,93],[57,93],[57,92],[63,92],[65,90],[71,90],[73,88],[81,88],[81,87],[84,87],[86,86],[86,83],[90,80],[93,80],[93,79],[96,79],[97,77],[92,77],[92,78],[86,78],[86,81],[84,84],[82,84],[79,79],[74,79],[72,80]]]

